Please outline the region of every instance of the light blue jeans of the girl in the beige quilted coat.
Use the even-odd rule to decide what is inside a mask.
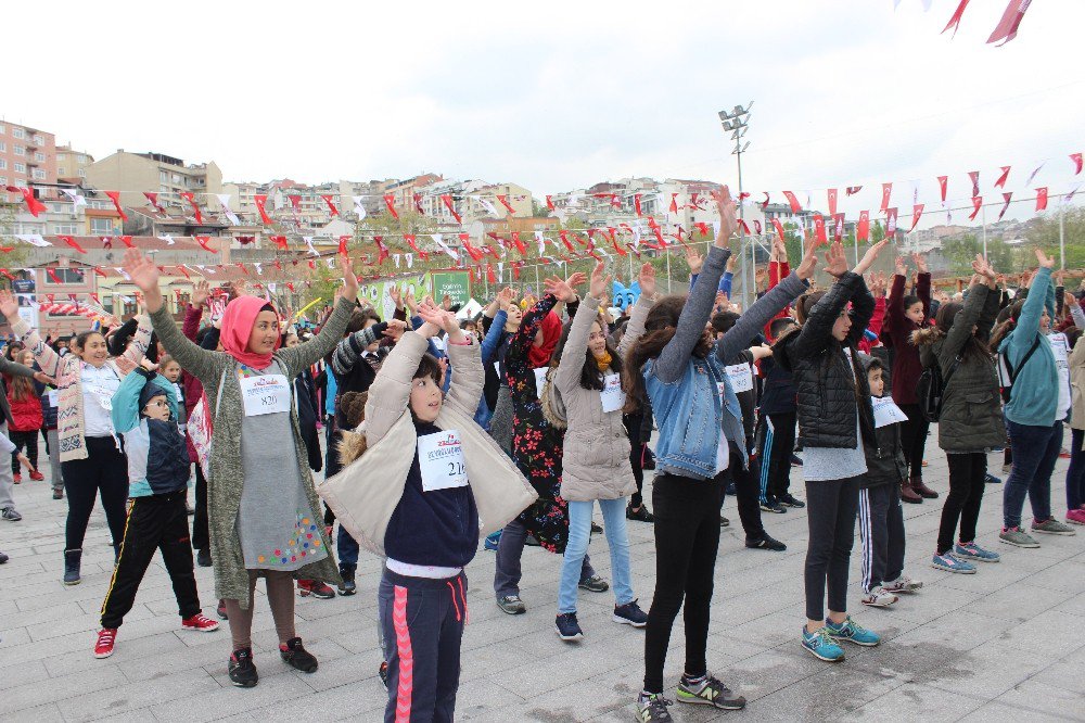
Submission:
[[[603,530],[611,548],[611,573],[614,575],[614,599],[617,605],[633,601],[629,574],[629,536],[625,532],[625,497],[599,499],[603,512]],[[591,537],[593,502],[569,503],[569,543],[561,565],[561,586],[558,588],[558,613],[576,612],[576,585],[580,582],[580,566]]]

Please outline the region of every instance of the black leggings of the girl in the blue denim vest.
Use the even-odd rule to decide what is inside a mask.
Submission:
[[[693,480],[658,474],[652,484],[655,515],[655,595],[644,635],[644,690],[663,693],[671,630],[686,601],[686,674],[704,675],[709,609],[719,547],[724,475]]]

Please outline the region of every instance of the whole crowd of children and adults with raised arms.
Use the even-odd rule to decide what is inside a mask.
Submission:
[[[95,497],[113,536],[93,655],[113,655],[161,550],[182,630],[219,627],[202,612],[194,574],[196,565],[214,568],[218,617],[230,630],[228,674],[239,687],[259,681],[251,631],[260,578],[280,657],[312,673],[319,663],[296,630],[294,581],[303,596],[333,597],[335,587],[354,595],[359,550],[381,556],[379,588],[368,592],[379,601],[386,721],[452,720],[469,620],[465,568],[481,538],[496,550],[493,591],[509,614],[527,610],[525,545],[563,556],[551,602],[564,642],[595,632],[577,618],[578,589],[613,586],[613,622],[644,630],[637,720],[658,723],[672,720],[664,665],[680,609],[686,658],[677,699],[745,706],[706,662],[729,491],[752,549],[787,548],[763,513],[805,509],[796,645],[830,662],[844,659],[845,643],[881,643],[847,612],[856,521],[859,602],[876,608],[922,588],[905,570],[902,503],[944,495],[932,567],[972,574],[999,562],[976,543],[984,491],[1000,481],[987,471],[991,452],[1012,454],[1003,543],[1035,548],[1042,534],[1072,535],[1071,525],[1085,524],[1085,344],[1076,343],[1085,312],[1081,299],[1057,289],[1051,258],[1037,251],[1036,271],[1011,296],[978,256],[971,282],[939,302],[921,256],[912,256],[910,293],[906,259],[896,259],[891,283],[871,272],[886,241],[851,268],[841,244],[829,244],[822,268],[832,283],[820,290],[810,286],[816,244],[792,270],[777,243],[768,289],[740,313],[727,297],[738,220],[726,187],[716,202],[715,242],[703,258],[687,256],[689,294],[659,294],[644,264],[639,297],[623,303],[616,319],[604,314],[612,280],[602,263],[590,277],[546,279],[539,297],[520,304],[501,290],[477,319],[461,321],[448,299],[398,291],[395,313],[382,318],[356,302],[344,256],[343,287],[311,334],[288,329],[281,309],[243,290],[231,291],[221,318],[203,324],[206,283],[178,328],[157,267],[129,250],[125,270],[145,314],[78,334],[71,350],[40,339],[18,318],[14,297],[0,292],[0,313],[20,339],[0,358],[0,449],[12,456],[0,465],[0,515],[21,519],[12,485],[22,468],[30,481],[43,480],[40,432],[53,496],[68,506],[64,583],[81,580]],[[943,491],[923,477],[935,421],[949,468]],[[1050,483],[1065,424],[1063,522]],[[794,464],[805,500],[793,494]],[[643,474],[652,469],[646,500]],[[319,485],[315,472],[323,473]],[[626,527],[638,521],[654,525],[647,612],[634,591]],[[611,582],[591,567],[593,532],[605,535]]]

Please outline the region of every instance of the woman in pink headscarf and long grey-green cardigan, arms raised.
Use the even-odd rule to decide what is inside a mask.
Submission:
[[[293,668],[311,673],[317,659],[294,630],[294,583],[306,579],[337,584],[339,570],[319,515],[319,503],[298,432],[292,380],[335,348],[358,295],[346,256],[335,312],[312,341],[279,348],[275,307],[239,296],[226,307],[222,352],[190,342],[177,328],[158,291],[158,269],[129,250],[125,268],[146,297],[146,308],[166,351],[203,382],[215,429],[207,479],[207,517],[215,588],[226,600],[233,651],[228,670],[234,685],[252,687],[253,593],[266,580],[279,635],[279,652]]]

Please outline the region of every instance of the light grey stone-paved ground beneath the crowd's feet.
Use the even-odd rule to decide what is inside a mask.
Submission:
[[[935,430],[928,440],[926,475],[944,495],[947,470],[936,439]],[[990,461],[1000,474],[1001,455]],[[1060,460],[1052,479],[1052,508],[1060,518],[1065,470]],[[799,496],[801,474],[793,469]],[[15,498],[23,521],[0,522],[0,549],[11,556],[0,566],[0,720],[381,720],[375,558],[363,556],[355,597],[298,599],[298,634],[320,660],[312,675],[279,660],[258,589],[253,627],[260,684],[241,689],[226,675],[226,625],[206,634],[180,630],[157,556],[118,633],[116,652],[95,660],[91,649],[113,560],[101,508],[87,535],[82,583],[65,587],[67,504],[54,502],[46,482],[24,481]],[[646,498],[651,499],[650,489]],[[1043,547],[1033,550],[999,544],[1001,486],[988,485],[979,542],[1000,553],[1003,561],[981,566],[974,575],[954,575],[929,566],[941,511],[941,499],[905,505],[907,572],[926,585],[889,610],[859,605],[853,554],[852,612],[885,640],[875,649],[850,646],[847,660],[830,665],[799,645],[805,512],[765,516],[769,533],[788,544],[787,553],[749,550],[728,499],[725,513],[733,522],[723,531],[716,563],[709,667],[750,705],[744,713],[676,705],[675,720],[1085,720],[1085,530],[1074,537],[1042,535]],[[655,566],[651,525],[629,522],[629,536],[634,589],[647,610]],[[590,553],[610,579],[601,535]],[[480,550],[468,568],[471,622],[458,719],[633,720],[631,701],[643,675],[643,632],[611,622],[610,593],[582,591],[585,638],[561,643],[553,633],[559,573],[557,557],[527,548],[522,596],[528,611],[509,617],[494,604],[494,555]],[[210,570],[197,568],[196,574],[204,612],[213,616]],[[666,669],[671,697],[682,649],[679,617]]]

